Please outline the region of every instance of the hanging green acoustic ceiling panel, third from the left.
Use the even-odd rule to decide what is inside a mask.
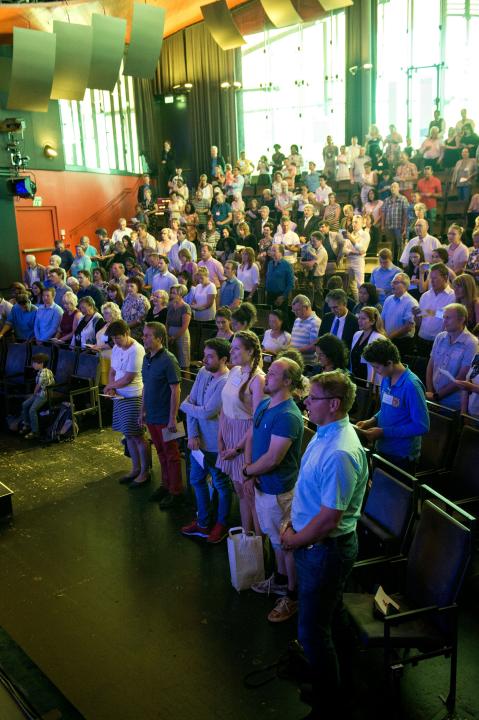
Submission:
[[[126,20],[92,15],[93,48],[87,87],[112,92],[125,51]]]

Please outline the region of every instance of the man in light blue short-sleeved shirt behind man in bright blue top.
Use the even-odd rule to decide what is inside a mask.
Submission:
[[[477,339],[466,328],[464,305],[450,303],[444,308],[444,330],[434,340],[426,373],[426,397],[459,410],[461,393],[456,380],[465,380],[477,352]]]

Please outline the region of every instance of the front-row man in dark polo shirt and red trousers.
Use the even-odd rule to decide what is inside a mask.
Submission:
[[[161,466],[161,485],[151,496],[167,510],[182,504],[181,458],[177,440],[165,440],[163,430],[176,432],[180,406],[181,372],[175,356],[166,348],[166,328],[146,323],[143,328],[143,414]]]

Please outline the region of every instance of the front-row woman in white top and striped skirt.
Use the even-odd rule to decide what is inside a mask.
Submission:
[[[141,417],[141,368],[145,350],[133,340],[124,320],[112,322],[108,334],[113,341],[113,350],[105,393],[113,398],[112,429],[125,436],[132,463],[131,471],[120,482],[134,488],[150,480],[148,449]]]

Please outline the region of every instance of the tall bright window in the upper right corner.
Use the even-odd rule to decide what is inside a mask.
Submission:
[[[413,145],[427,135],[436,100],[447,126],[461,108],[479,115],[475,38],[479,0],[379,0],[376,122]]]

